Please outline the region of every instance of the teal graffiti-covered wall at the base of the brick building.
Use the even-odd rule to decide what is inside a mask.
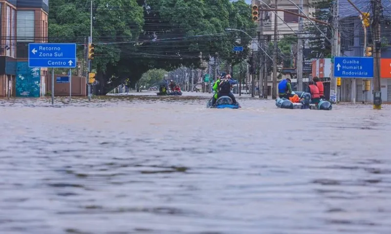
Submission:
[[[16,96],[40,97],[40,68],[28,67],[28,62],[17,62],[16,68]]]

